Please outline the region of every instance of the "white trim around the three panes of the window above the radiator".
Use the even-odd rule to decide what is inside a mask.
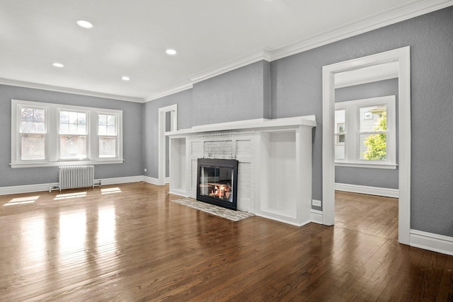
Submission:
[[[42,108],[46,110],[46,156],[42,161],[21,160],[20,110],[21,107]],[[72,110],[88,112],[88,150],[86,160],[59,160],[59,111]],[[98,114],[117,115],[117,156],[99,158]],[[122,110],[90,108],[74,105],[40,103],[28,100],[11,100],[11,168],[54,167],[59,165],[99,165],[123,163],[122,153]]]

